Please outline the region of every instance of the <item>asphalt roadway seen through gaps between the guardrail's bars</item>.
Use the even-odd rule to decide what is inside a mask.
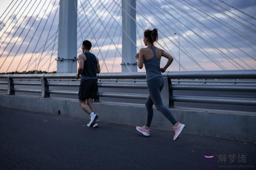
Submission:
[[[0,87],[6,87],[7,88],[7,85],[0,85]],[[15,85],[15,88],[41,89],[41,86]],[[50,89],[78,91],[78,87],[50,86]],[[147,89],[99,88],[99,92],[120,92],[120,93],[148,94]],[[6,91],[0,91],[0,93],[6,93]],[[28,93],[28,92],[15,92],[15,94],[41,96],[40,93]],[[173,95],[256,99],[256,92],[215,92],[215,91],[174,90]],[[52,97],[61,97],[61,98],[70,98],[70,99],[78,99],[78,96],[76,96],[76,95],[51,94],[50,96],[52,96]],[[119,98],[100,97],[100,100],[101,101],[111,101],[111,102],[124,102],[124,103],[140,103],[140,104],[145,103],[145,100],[136,100],[136,99],[119,99]],[[256,112],[256,107],[255,106],[221,105],[221,104],[188,103],[188,102],[174,102],[174,106],[176,106],[176,107],[192,107],[192,108]]]

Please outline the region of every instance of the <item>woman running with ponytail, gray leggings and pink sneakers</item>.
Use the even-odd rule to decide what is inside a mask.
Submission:
[[[148,114],[147,123],[142,127],[137,126],[136,129],[145,136],[150,135],[149,128],[153,118],[153,104],[155,104],[156,109],[172,123],[172,129],[175,131],[173,140],[177,140],[180,137],[181,132],[185,129],[185,125],[177,122],[170,110],[164,107],[160,94],[164,87],[164,79],[161,72],[164,72],[171,65],[173,57],[164,50],[154,46],[154,42],[157,41],[157,39],[157,29],[147,29],[144,32],[143,42],[145,43],[145,46],[148,47],[140,48],[139,53],[135,55],[138,67],[142,69],[143,63],[145,65],[149,92],[148,99],[145,103]],[[163,68],[160,68],[160,60],[162,56],[167,58],[168,61]]]

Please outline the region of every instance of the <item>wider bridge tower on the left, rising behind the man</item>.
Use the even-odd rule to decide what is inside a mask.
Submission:
[[[60,1],[57,73],[77,72],[77,0]]]

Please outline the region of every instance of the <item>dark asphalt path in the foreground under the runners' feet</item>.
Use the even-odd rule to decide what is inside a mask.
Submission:
[[[214,155],[211,169],[256,166],[256,143],[186,130],[173,141],[169,130],[152,128],[151,136],[143,137],[131,125],[98,121],[99,128],[88,128],[88,121],[0,107],[0,169],[201,170],[209,160],[205,152]],[[236,156],[233,163],[229,154]]]

